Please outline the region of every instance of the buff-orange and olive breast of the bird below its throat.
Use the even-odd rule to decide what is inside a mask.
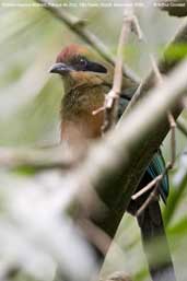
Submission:
[[[61,103],[61,141],[71,148],[85,147],[102,136],[104,112],[94,110],[104,104],[108,89],[103,85],[73,89]]]

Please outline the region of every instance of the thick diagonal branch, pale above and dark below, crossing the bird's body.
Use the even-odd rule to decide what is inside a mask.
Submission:
[[[187,86],[187,61],[141,101],[107,138],[90,150],[79,169],[79,179],[94,186],[109,211],[94,218],[114,236],[124,211],[153,154],[168,132],[167,112],[177,117],[178,103]],[[83,191],[84,194],[84,191]]]

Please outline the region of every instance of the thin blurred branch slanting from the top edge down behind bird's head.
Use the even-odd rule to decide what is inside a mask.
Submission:
[[[48,10],[52,15],[63,22],[73,33],[75,33],[81,39],[83,39],[86,44],[91,45],[106,61],[112,65],[115,65],[116,58],[108,50],[108,48],[101,42],[89,28],[85,27],[85,24],[79,24],[79,20],[70,16],[62,9],[58,9],[57,7],[51,5],[46,0],[35,0],[40,3],[46,10]],[[140,79],[137,74],[133,73],[127,66],[122,67],[122,71],[125,77],[132,83],[140,83]]]

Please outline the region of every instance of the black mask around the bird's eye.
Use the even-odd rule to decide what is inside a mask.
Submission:
[[[102,65],[89,61],[85,57],[78,57],[72,62],[73,69],[75,71],[91,71],[97,73],[107,73],[107,69]]]

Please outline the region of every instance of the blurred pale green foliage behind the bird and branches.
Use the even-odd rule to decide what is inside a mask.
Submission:
[[[2,2],[2,1],[1,1]],[[32,2],[32,1],[28,1]],[[59,1],[60,2],[60,1]],[[65,1],[63,1],[65,2]],[[69,3],[69,1],[66,1]],[[150,9],[150,8],[149,8]],[[116,51],[121,25],[121,9],[73,9],[67,12],[87,20],[87,27],[96,34],[113,52]],[[156,9],[148,8],[137,11],[149,48],[157,57],[163,46],[175,33],[179,20],[167,17]],[[58,51],[70,43],[81,43],[63,23],[52,17],[42,8],[2,8],[0,9],[0,145],[25,147],[58,143],[59,107],[62,86],[59,78],[50,77],[48,69],[55,61]],[[175,46],[167,54],[171,59],[186,56],[186,45]],[[131,35],[125,49],[125,61],[141,77],[145,77],[151,68],[148,46]],[[186,115],[183,115],[186,121]],[[186,138],[177,133],[178,161],[176,172],[179,173],[180,153],[186,149]],[[164,153],[170,157],[168,137],[164,142]],[[187,171],[187,169],[186,169]],[[23,171],[22,171],[23,172]],[[35,180],[34,175],[30,179]],[[22,180],[23,174],[10,173]],[[170,245],[175,261],[178,280],[186,280],[186,175],[185,180],[174,182],[176,173],[171,175],[171,199],[168,211],[172,218],[167,225]],[[177,197],[177,204],[175,203]],[[176,209],[174,209],[174,207]],[[166,221],[171,215],[164,211]],[[118,242],[125,254],[120,260],[109,262],[110,268],[126,269],[135,276],[136,281],[148,278],[148,269],[141,249],[139,230],[135,220],[127,215],[122,222],[122,234]],[[118,249],[119,250],[119,249]],[[118,250],[116,253],[118,253]],[[117,255],[117,254],[116,254]],[[114,255],[114,259],[115,259]],[[114,260],[113,260],[114,261]],[[116,265],[117,264],[117,265]],[[112,267],[113,266],[113,267]],[[22,279],[19,279],[21,281]],[[24,279],[25,280],[25,279]]]

